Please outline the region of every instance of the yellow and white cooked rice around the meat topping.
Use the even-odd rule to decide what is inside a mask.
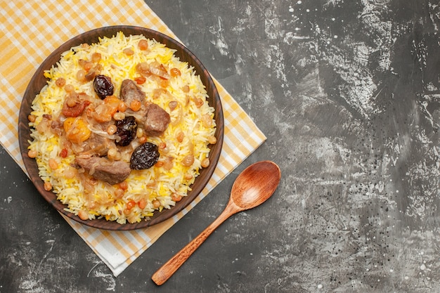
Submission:
[[[214,136],[216,125],[214,109],[206,102],[207,92],[200,77],[195,74],[193,67],[174,56],[172,49],[154,39],[146,39],[148,51],[139,50],[138,41],[141,39],[145,37],[142,35],[126,37],[119,32],[115,37],[100,39],[97,44],[77,46],[66,51],[56,66],[45,72],[45,76],[50,80],[32,103],[31,115],[35,117],[35,120],[30,122],[33,141],[29,148],[37,151],[39,176],[44,182],[51,183],[53,193],[56,193],[58,200],[67,204],[67,211],[77,215],[82,214],[83,217],[86,212],[87,219],[104,218],[121,224],[136,223],[143,219],[148,220],[155,211],[170,209],[176,203],[172,200],[172,194],[186,196],[190,190],[190,184],[199,174],[202,160],[209,157],[209,140]],[[127,56],[123,53],[124,48],[131,48],[134,54]],[[162,136],[150,136],[147,139],[156,145],[166,143],[169,151],[164,153],[160,150],[159,162],[164,162],[166,157],[172,157],[174,165],[168,171],[158,165],[150,169],[131,171],[129,178],[126,179],[128,188],[122,198],[115,197],[118,185],[110,185],[103,181],[98,181],[92,191],[84,188],[78,176],[80,170],[72,167],[75,163],[75,155],[70,152],[67,157],[60,156],[63,150],[62,139],[51,131],[39,132],[34,129],[43,119],[43,115],[60,116],[66,91],[64,87],[56,86],[55,82],[58,78],[64,78],[66,84],[75,87],[75,91],[98,98],[93,91],[93,81],[79,82],[76,77],[77,71],[82,69],[78,65],[78,60],[90,60],[93,52],[101,53],[102,57],[99,62],[103,65],[103,69],[100,74],[111,77],[112,84],[115,86],[115,96],[119,96],[120,85],[124,79],[135,79],[139,76],[135,70],[138,63],[157,61],[164,65],[167,72],[173,67],[181,72],[180,77],[169,79],[167,86],[172,99],[179,103],[179,107],[175,110],[169,109],[170,96],[162,94],[160,98],[153,100],[153,90],[160,87],[155,80],[147,78],[144,84],[139,85],[146,93],[146,99],[160,105],[171,117],[171,123]],[[186,85],[190,87],[189,93],[182,90]],[[198,108],[194,103],[194,98],[201,98],[205,103]],[[211,125],[204,124],[204,115],[205,119],[209,118]],[[179,131],[183,131],[184,134],[181,143],[176,141],[176,134]],[[191,153],[191,145],[193,145],[195,160],[192,166],[185,167],[181,161],[183,157]],[[56,160],[58,163],[56,169],[49,167],[49,159]],[[65,176],[72,172],[75,176]],[[192,175],[192,178],[187,179],[189,175]],[[136,204],[128,210],[127,203],[131,200]],[[139,207],[138,204],[142,200],[146,202],[144,208]],[[155,200],[160,202],[160,207],[153,207]]]

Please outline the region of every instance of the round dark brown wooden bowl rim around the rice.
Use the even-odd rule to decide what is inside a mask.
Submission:
[[[210,164],[209,167],[202,169],[200,171],[200,175],[195,179],[195,182],[191,186],[192,190],[188,193],[186,197],[183,197],[180,202],[176,202],[176,205],[171,209],[163,209],[161,212],[156,211],[154,216],[150,218],[149,221],[141,221],[140,223],[127,223],[127,224],[119,224],[115,221],[106,221],[105,219],[96,219],[96,220],[88,220],[84,221],[79,219],[75,214],[71,214],[70,212],[65,211],[65,204],[62,204],[59,200],[56,199],[56,194],[51,191],[44,190],[44,182],[41,180],[38,174],[37,162],[35,159],[31,159],[27,157],[27,147],[29,146],[28,141],[32,141],[30,137],[30,126],[28,125],[27,116],[30,115],[32,100],[34,100],[35,96],[41,91],[43,86],[46,85],[47,79],[44,77],[44,70],[49,70],[52,65],[55,65],[60,60],[61,53],[69,50],[72,46],[78,46],[79,44],[92,44],[97,43],[99,37],[113,37],[117,32],[124,32],[126,36],[132,34],[143,34],[148,39],[155,39],[162,44],[165,44],[169,48],[173,48],[176,50],[175,55],[180,58],[181,61],[188,62],[189,65],[193,66],[197,74],[200,75],[200,79],[202,83],[206,86],[207,93],[209,95],[208,103],[211,105],[214,111],[214,119],[216,121],[216,138],[217,143],[215,145],[211,145],[211,151],[209,154]],[[182,209],[184,209],[190,202],[192,202],[195,197],[205,188],[205,185],[208,183],[209,178],[211,178],[214,173],[214,169],[216,168],[217,162],[219,162],[221,147],[223,145],[223,136],[224,136],[224,116],[223,110],[221,107],[221,100],[219,97],[219,93],[216,90],[216,86],[212,77],[209,75],[209,72],[202,65],[200,60],[191,53],[188,48],[183,46],[179,41],[176,41],[165,34],[160,32],[156,32],[154,30],[149,30],[145,27],[135,27],[135,26],[112,26],[112,27],[101,27],[96,30],[91,30],[89,32],[84,32],[83,34],[79,34],[77,37],[70,39],[65,42],[65,44],[61,45],[57,48],[53,53],[51,53],[46,60],[39,66],[37,72],[35,72],[34,76],[30,80],[29,85],[25,91],[25,95],[23,97],[21,106],[20,106],[20,115],[18,117],[18,141],[20,144],[20,152],[22,155],[23,162],[25,163],[25,167],[27,172],[34,183],[35,187],[39,191],[39,193],[46,199],[53,207],[55,207],[60,213],[65,214],[70,219],[74,219],[79,223],[83,223],[84,225],[91,226],[94,228],[106,229],[106,230],[134,230],[138,228],[145,228],[148,226],[153,226],[157,223],[165,221],[175,214],[179,213]]]

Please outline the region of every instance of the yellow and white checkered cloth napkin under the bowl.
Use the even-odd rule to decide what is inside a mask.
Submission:
[[[25,171],[18,146],[18,112],[22,95],[40,63],[77,34],[108,25],[138,25],[176,36],[141,0],[0,0],[0,142]],[[224,107],[225,137],[219,164],[206,188],[172,219],[141,230],[114,232],[65,220],[119,275],[160,235],[195,207],[212,188],[266,139],[238,103],[216,83]]]

